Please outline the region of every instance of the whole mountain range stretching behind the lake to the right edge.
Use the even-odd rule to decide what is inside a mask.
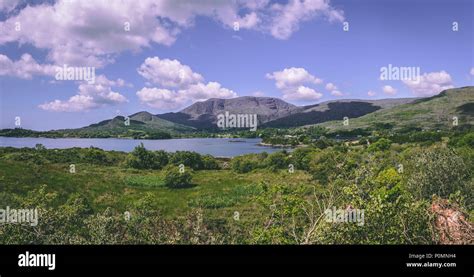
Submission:
[[[260,128],[321,124],[337,130],[342,128],[339,123],[344,117],[351,119],[348,128],[365,128],[374,122],[390,123],[395,126],[425,122],[425,126],[439,127],[444,124],[442,121],[456,115],[462,122],[472,124],[473,110],[474,87],[449,89],[426,98],[345,99],[308,106],[296,106],[274,97],[243,96],[231,99],[211,98],[174,113],[138,112],[128,116],[129,125],[124,124],[125,117],[117,116],[79,130],[107,130],[116,133],[137,130],[170,134],[216,131],[217,116],[225,112],[257,114]]]

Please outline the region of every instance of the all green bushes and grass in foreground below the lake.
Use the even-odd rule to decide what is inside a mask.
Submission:
[[[472,244],[472,132],[373,140],[231,160],[0,148],[0,203],[40,214],[35,227],[0,225],[0,243]],[[364,224],[328,222],[331,208],[363,210]],[[449,210],[462,215],[454,234]]]

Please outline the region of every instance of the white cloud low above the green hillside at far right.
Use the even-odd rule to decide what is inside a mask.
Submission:
[[[446,71],[424,73],[418,81],[403,81],[418,96],[431,96],[453,88],[451,75]]]

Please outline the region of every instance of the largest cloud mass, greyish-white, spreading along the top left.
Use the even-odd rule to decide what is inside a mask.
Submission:
[[[11,9],[8,0],[1,9]],[[193,0],[57,0],[28,5],[0,22],[0,45],[30,43],[48,50],[56,64],[101,67],[123,51],[139,51],[152,43],[171,45],[179,33],[205,16],[226,28],[235,22],[239,28],[269,32],[287,39],[303,21],[318,15],[329,21],[343,20],[343,12],[328,0],[290,0],[273,4],[253,1]],[[16,30],[20,23],[21,31]]]

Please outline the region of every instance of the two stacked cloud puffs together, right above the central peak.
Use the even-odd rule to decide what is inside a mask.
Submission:
[[[283,93],[286,100],[318,100],[323,95],[308,85],[322,83],[322,80],[301,67],[285,68],[281,71],[266,74],[267,79],[275,80],[275,86]]]

